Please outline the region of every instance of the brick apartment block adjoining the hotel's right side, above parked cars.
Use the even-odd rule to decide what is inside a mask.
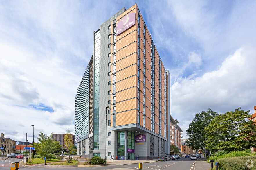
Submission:
[[[181,138],[183,138],[183,131],[178,125],[179,121],[177,119],[174,120],[172,116],[170,117],[170,144],[178,147],[181,152]]]

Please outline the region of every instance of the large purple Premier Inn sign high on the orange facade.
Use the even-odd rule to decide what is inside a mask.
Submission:
[[[131,26],[135,24],[135,13],[130,13],[124,16],[120,21],[116,24],[116,35],[118,36],[125,30],[129,29]]]

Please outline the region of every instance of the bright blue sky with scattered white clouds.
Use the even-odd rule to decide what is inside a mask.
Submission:
[[[75,134],[75,95],[93,31],[137,3],[171,75],[171,115],[256,106],[256,1],[0,1],[0,133]],[[35,136],[35,142],[37,136]]]

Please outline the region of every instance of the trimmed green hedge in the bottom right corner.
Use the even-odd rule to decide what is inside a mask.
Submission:
[[[250,161],[249,161],[250,160]],[[256,156],[240,156],[240,157],[232,157],[232,158],[221,158],[216,160],[219,162],[219,169],[223,170],[256,170]],[[253,165],[252,168],[248,168],[247,165]],[[215,162],[214,162],[215,164]]]

